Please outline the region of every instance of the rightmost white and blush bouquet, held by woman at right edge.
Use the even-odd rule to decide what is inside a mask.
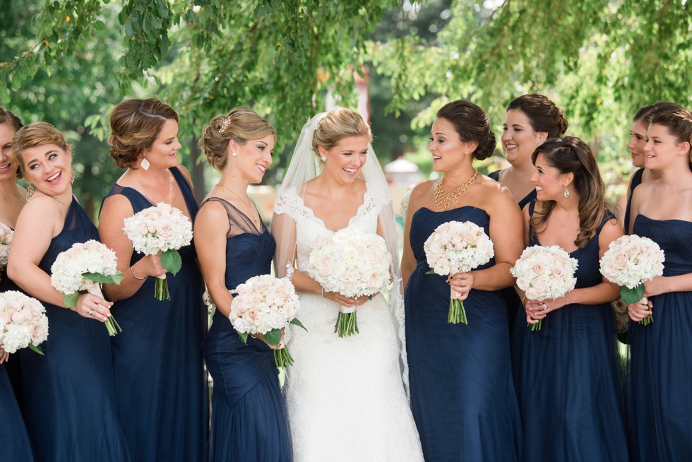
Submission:
[[[609,244],[600,261],[600,271],[604,278],[620,286],[620,297],[626,304],[648,304],[644,283],[663,274],[664,261],[663,250],[648,237],[621,236]],[[653,321],[649,315],[640,324],[647,326]]]

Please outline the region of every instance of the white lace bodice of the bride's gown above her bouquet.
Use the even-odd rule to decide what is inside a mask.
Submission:
[[[388,203],[388,197],[387,191],[378,191],[377,188],[366,184],[363,203],[350,218],[347,227],[357,227],[364,232],[377,232],[377,215],[382,206]],[[287,213],[294,220],[297,235],[297,267],[300,271],[306,271],[312,249],[320,239],[333,234],[334,231],[328,229],[323,220],[305,205],[297,188],[289,189],[276,198],[274,213]]]

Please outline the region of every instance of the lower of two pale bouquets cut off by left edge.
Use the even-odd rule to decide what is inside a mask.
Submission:
[[[16,290],[0,293],[0,345],[7,353],[28,347],[43,355],[38,345],[47,338],[48,316],[41,302]]]

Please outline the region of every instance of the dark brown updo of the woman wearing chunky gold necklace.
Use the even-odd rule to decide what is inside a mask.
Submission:
[[[488,116],[477,105],[465,100],[448,102],[437,112],[437,117],[451,122],[461,141],[477,143],[472,158],[487,159],[495,152],[495,134]]]

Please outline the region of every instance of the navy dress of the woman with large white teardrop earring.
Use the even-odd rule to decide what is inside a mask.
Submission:
[[[177,167],[169,169],[194,219],[197,203]],[[134,213],[154,206],[116,184]],[[208,400],[202,366],[206,309],[193,244],[179,249],[182,268],[167,274],[171,300],[155,300],[155,278],[111,309],[122,332],[112,338],[120,422],[135,461],[203,461],[207,456]],[[133,252],[130,266],[143,257]]]

